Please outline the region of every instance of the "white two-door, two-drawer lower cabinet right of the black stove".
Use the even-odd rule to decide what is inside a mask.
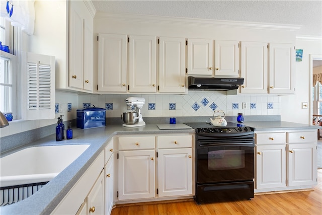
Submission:
[[[316,130],[256,133],[255,192],[317,184]]]

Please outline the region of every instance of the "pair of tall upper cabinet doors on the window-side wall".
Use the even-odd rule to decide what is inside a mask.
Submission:
[[[69,87],[93,91],[93,17],[83,1],[69,4]]]

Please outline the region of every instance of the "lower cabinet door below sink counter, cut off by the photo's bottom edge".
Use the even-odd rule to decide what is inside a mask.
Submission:
[[[104,172],[102,171],[87,197],[88,214],[104,214]]]

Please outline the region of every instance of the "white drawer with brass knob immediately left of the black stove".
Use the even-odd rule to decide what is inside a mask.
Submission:
[[[192,146],[191,135],[176,135],[176,136],[158,136],[157,148],[190,148]]]

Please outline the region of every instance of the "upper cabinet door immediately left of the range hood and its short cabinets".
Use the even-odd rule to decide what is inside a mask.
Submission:
[[[159,92],[185,93],[185,38],[159,38]]]

